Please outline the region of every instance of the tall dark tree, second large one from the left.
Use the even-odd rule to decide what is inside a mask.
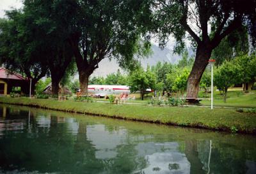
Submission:
[[[33,28],[33,52],[47,61],[51,72],[52,94],[58,95],[60,81],[72,62],[73,53],[68,42],[67,9],[71,1],[24,1],[24,14]],[[65,8],[64,8],[65,7]]]

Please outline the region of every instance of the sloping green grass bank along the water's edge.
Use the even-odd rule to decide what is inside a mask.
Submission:
[[[211,110],[203,107],[159,107],[148,106],[147,104],[124,104],[116,106],[99,102],[28,98],[13,99],[10,97],[0,97],[0,102],[127,120],[256,134],[256,115],[238,113],[234,109]]]

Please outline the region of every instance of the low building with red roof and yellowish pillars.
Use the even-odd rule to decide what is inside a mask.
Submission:
[[[20,87],[22,93],[29,93],[29,81],[20,74],[11,74],[5,68],[0,68],[0,95],[8,95],[13,87]]]

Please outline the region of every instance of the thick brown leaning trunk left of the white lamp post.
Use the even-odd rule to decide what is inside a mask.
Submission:
[[[207,46],[198,46],[195,62],[188,77],[187,98],[197,98],[200,80],[208,65],[211,52],[212,49],[207,49]]]

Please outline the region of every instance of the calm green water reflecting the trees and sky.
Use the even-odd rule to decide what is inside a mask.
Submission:
[[[0,105],[0,173],[256,173],[256,137]]]

